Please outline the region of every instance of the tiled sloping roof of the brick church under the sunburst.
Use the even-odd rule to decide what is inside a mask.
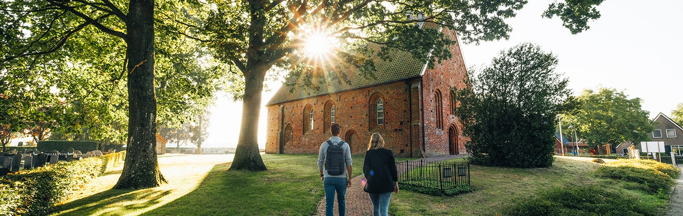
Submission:
[[[368,46],[373,45],[369,44]],[[379,48],[378,45],[374,46]],[[376,71],[374,72],[374,75],[376,79],[365,79],[358,68],[349,66],[339,72],[340,74],[346,75],[348,82],[343,81],[342,79],[329,79],[317,89],[313,89],[313,87],[295,87],[293,92],[290,92],[292,87],[282,85],[266,105],[275,105],[292,100],[300,100],[303,98],[343,92],[381,83],[389,83],[391,81],[399,81],[411,77],[419,77],[426,69],[426,58],[418,60],[413,58],[412,54],[398,50],[392,51],[389,56],[391,57],[391,62],[382,61],[382,59],[376,56],[373,57],[375,60]]]

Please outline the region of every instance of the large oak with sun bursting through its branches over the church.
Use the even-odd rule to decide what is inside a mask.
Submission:
[[[559,16],[572,33],[588,29],[600,17],[595,9],[603,0],[561,1],[550,4],[543,16]],[[216,57],[232,63],[244,82],[242,122],[236,155],[230,169],[266,170],[257,146],[261,92],[266,73],[289,71],[289,85],[320,87],[329,75],[340,77],[339,67],[356,67],[373,78],[374,59],[391,60],[388,53],[406,51],[416,59],[435,62],[451,57],[441,28],[454,30],[464,42],[507,39],[512,28],[505,18],[516,16],[525,0],[236,0],[216,1],[216,8],[201,27],[208,35],[193,38],[208,42]],[[427,27],[423,27],[426,25]],[[316,57],[302,51],[308,40],[324,37],[336,49]],[[379,44],[381,48],[365,44]],[[334,59],[326,67],[321,59]],[[315,80],[315,79],[313,79]]]

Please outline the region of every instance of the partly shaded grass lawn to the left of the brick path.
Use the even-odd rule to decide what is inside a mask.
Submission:
[[[324,196],[318,155],[262,154],[262,158],[266,172],[228,170],[231,163],[221,163],[206,175],[185,177],[195,179],[171,180],[169,176],[183,171],[163,172],[161,167],[171,182],[168,185],[104,190],[57,206],[55,215],[311,215]],[[364,156],[352,159],[357,176],[363,172]]]

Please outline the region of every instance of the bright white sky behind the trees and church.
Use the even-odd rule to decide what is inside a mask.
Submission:
[[[629,98],[643,99],[643,109],[650,116],[670,115],[683,103],[683,1],[680,0],[607,0],[598,7],[602,17],[591,22],[591,29],[572,35],[559,18],[541,18],[548,4],[555,0],[529,1],[516,18],[507,20],[513,31],[510,40],[463,44],[466,66],[488,64],[499,51],[521,42],[533,42],[544,51],[559,57],[556,71],[570,79],[574,94],[602,85],[624,90]],[[275,94],[279,81],[269,83],[272,92],[264,92],[262,104]],[[234,147],[242,113],[242,103],[219,98],[212,108],[211,126],[206,147]],[[266,107],[261,108],[259,146],[265,148]]]

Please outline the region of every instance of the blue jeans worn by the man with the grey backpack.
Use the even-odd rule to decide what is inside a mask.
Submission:
[[[326,177],[323,180],[325,187],[325,215],[333,216],[335,211],[335,191],[339,203],[339,216],[346,215],[346,178]]]

